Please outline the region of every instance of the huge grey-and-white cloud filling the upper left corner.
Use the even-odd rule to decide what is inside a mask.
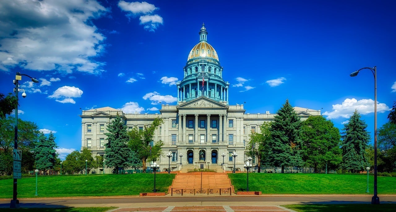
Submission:
[[[107,9],[95,0],[0,1],[0,70],[82,71],[98,74],[103,34],[90,21]]]

